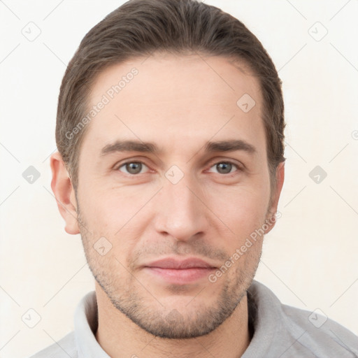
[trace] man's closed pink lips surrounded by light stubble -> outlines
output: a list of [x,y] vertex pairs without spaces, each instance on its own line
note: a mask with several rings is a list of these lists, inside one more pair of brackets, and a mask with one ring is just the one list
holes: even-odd
[[216,269],[215,266],[198,258],[178,260],[160,259],[143,266],[150,275],[175,285],[185,285],[207,278]]

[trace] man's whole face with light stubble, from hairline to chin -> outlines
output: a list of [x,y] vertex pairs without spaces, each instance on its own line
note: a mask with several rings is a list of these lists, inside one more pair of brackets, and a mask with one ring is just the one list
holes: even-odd
[[[222,57],[157,54],[103,71],[92,106],[103,95],[76,194],[92,273],[150,334],[208,334],[245,296],[262,251],[252,233],[275,211],[259,83]],[[186,259],[206,265],[175,266]]]

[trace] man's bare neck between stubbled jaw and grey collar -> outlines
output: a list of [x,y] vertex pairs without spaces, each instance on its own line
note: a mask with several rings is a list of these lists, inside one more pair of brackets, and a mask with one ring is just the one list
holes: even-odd
[[247,296],[210,334],[178,340],[156,337],[138,327],[113,306],[97,283],[96,298],[99,318],[96,340],[111,358],[238,358],[250,343]]

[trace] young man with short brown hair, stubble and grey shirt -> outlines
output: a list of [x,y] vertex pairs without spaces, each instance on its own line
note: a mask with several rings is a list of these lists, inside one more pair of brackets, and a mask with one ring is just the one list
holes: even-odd
[[253,281],[284,181],[280,79],[220,9],[132,0],[80,43],[52,190],[96,291],[34,357],[357,357]]

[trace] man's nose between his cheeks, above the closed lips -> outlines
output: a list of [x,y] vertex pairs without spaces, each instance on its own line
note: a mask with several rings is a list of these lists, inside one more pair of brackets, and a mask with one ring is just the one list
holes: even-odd
[[155,229],[162,235],[179,241],[190,241],[208,229],[208,208],[195,180],[184,176],[173,184],[164,181],[157,200]]

